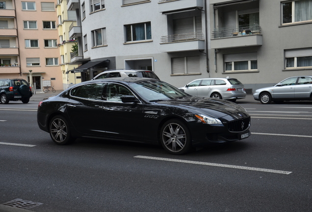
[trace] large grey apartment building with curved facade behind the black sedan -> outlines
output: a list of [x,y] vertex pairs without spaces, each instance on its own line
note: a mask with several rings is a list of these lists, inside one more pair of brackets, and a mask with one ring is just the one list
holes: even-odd
[[312,0],[68,0],[82,80],[148,69],[175,86],[233,77],[248,91],[312,75]]

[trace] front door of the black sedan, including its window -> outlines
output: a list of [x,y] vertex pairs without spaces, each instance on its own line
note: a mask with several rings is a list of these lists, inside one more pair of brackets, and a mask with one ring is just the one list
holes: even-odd
[[124,95],[134,95],[130,89],[119,83],[108,83],[104,93],[103,123],[106,135],[125,140],[143,140],[143,105],[121,101]]

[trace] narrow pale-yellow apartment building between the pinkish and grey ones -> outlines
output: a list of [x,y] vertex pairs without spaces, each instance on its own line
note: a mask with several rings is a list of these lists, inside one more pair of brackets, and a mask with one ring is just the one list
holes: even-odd
[[76,11],[67,10],[67,1],[57,0],[55,5],[58,19],[58,44],[63,89],[81,82],[80,73],[69,74],[77,65],[71,65],[71,57],[78,55],[78,43],[69,37],[69,31],[77,26]]

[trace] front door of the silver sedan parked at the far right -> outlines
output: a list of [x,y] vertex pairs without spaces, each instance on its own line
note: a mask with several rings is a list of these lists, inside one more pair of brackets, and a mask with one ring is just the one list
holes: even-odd
[[281,81],[274,87],[272,97],[275,99],[293,99],[295,97],[297,79],[297,77],[293,77]]

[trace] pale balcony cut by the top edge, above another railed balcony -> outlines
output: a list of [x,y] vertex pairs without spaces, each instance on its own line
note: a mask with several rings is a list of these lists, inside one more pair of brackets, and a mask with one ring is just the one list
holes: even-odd
[[158,11],[163,15],[191,11],[203,7],[203,0],[160,0],[158,2]]

